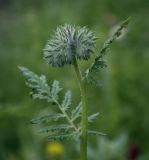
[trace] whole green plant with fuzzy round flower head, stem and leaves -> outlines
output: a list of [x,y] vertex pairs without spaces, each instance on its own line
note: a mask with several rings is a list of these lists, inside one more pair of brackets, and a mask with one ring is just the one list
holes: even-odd
[[[44,49],[44,59],[52,67],[63,67],[64,65],[74,67],[81,93],[81,100],[75,108],[71,107],[70,90],[65,93],[63,100],[60,101],[59,94],[62,88],[58,81],[54,80],[49,85],[44,75],[39,76],[25,67],[19,67],[26,78],[26,84],[32,89],[33,99],[46,100],[56,104],[59,108],[58,113],[49,113],[33,119],[32,124],[44,123],[45,127],[41,129],[41,132],[46,132],[49,140],[79,139],[80,160],[87,160],[88,135],[104,135],[88,129],[88,123],[95,120],[99,113],[87,115],[86,86],[88,83],[97,85],[98,80],[95,75],[106,66],[104,56],[110,44],[121,35],[128,23],[129,19],[122,22],[115,33],[104,43],[101,50],[96,53],[93,63],[84,73],[79,68],[78,60],[88,60],[95,53],[97,38],[92,31],[86,27],[64,25],[58,27],[54,36],[47,42]],[[61,119],[65,119],[66,123],[61,123]],[[54,123],[51,126],[49,122],[51,124],[52,121],[59,122],[57,125]]]

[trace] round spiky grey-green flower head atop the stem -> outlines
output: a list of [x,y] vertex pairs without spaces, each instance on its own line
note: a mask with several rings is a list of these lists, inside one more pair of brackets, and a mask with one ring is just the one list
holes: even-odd
[[60,26],[44,49],[44,58],[53,67],[71,64],[73,59],[88,60],[94,53],[96,37],[86,27]]

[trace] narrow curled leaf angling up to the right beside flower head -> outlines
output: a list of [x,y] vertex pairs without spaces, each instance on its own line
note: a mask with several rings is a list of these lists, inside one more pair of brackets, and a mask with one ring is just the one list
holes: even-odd
[[94,60],[94,62],[91,64],[91,66],[86,70],[85,72],[85,78],[95,84],[98,85],[98,80],[95,78],[96,74],[104,67],[107,66],[104,56],[106,55],[108,49],[110,48],[110,45],[121,36],[123,30],[127,28],[128,24],[130,22],[130,18],[126,19],[122,22],[122,24],[117,28],[117,30],[114,32],[114,34],[104,43],[103,47],[97,53],[97,56]]

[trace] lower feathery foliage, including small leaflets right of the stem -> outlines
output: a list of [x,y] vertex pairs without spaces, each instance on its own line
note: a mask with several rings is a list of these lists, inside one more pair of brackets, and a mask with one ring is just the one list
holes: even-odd
[[[82,103],[80,102],[76,108],[71,109],[69,115],[67,110],[71,106],[71,91],[67,91],[65,93],[63,101],[61,103],[59,100],[59,93],[62,88],[59,86],[58,81],[55,80],[52,85],[49,86],[44,75],[38,76],[25,67],[19,67],[19,69],[27,80],[27,86],[32,89],[32,92],[30,94],[32,95],[33,99],[45,99],[48,102],[55,103],[59,108],[58,113],[47,114],[32,119],[31,123],[46,124],[46,126],[41,129],[40,132],[47,133],[50,140],[75,139],[80,137],[81,126],[80,124],[77,125],[75,121],[76,119],[81,117]],[[92,122],[93,120],[95,120],[98,115],[99,113],[90,115],[88,117],[88,122]],[[67,123],[48,126],[48,123],[59,121],[59,119],[64,119]]]

